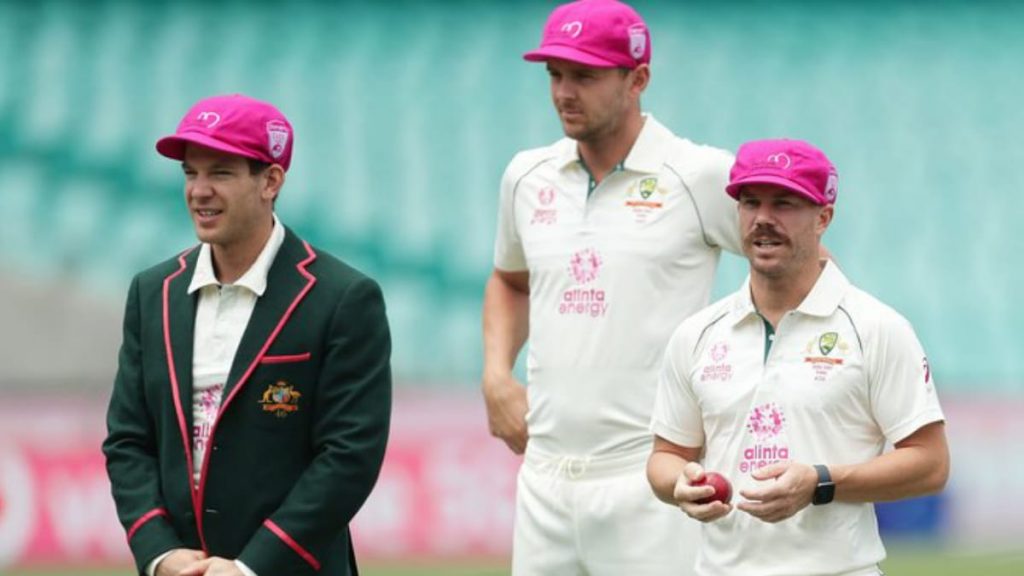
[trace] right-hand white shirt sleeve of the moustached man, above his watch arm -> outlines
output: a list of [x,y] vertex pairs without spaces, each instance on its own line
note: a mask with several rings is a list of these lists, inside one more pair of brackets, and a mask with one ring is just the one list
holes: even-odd
[[897,443],[945,417],[925,349],[910,324],[892,314],[869,344],[871,407],[886,440]]

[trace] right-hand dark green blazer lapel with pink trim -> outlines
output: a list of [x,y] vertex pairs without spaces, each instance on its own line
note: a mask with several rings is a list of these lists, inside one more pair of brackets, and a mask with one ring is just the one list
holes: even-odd
[[237,388],[245,385],[281,328],[288,322],[294,307],[312,288],[316,280],[306,272],[305,266],[315,257],[312,249],[286,227],[285,242],[281,245],[266,278],[266,291],[256,301],[253,315],[249,319],[239,349],[234,354],[234,360],[231,362],[231,371],[224,385],[221,411],[227,408],[238,392]]

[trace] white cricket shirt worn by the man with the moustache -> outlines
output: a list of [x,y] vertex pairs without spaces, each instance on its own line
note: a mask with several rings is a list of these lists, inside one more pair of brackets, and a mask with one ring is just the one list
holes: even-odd
[[[898,313],[830,261],[768,346],[750,280],[687,319],[669,342],[651,430],[705,447],[734,494],[779,460],[855,464],[943,420],[925,352]],[[777,524],[733,510],[705,524],[705,575],[878,574],[874,507],[834,501]]]

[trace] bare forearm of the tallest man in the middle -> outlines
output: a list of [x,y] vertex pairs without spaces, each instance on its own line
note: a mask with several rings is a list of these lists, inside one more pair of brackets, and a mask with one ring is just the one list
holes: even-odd
[[529,293],[509,276],[493,273],[483,293],[484,373],[511,371],[529,332]]

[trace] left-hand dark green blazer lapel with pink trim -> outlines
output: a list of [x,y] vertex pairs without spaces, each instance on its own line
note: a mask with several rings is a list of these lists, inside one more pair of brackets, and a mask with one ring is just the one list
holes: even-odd
[[193,248],[178,257],[179,268],[164,280],[164,344],[177,421],[181,427],[186,457],[191,456],[193,428],[193,344],[196,332],[196,294],[188,283],[196,271],[199,250]]

